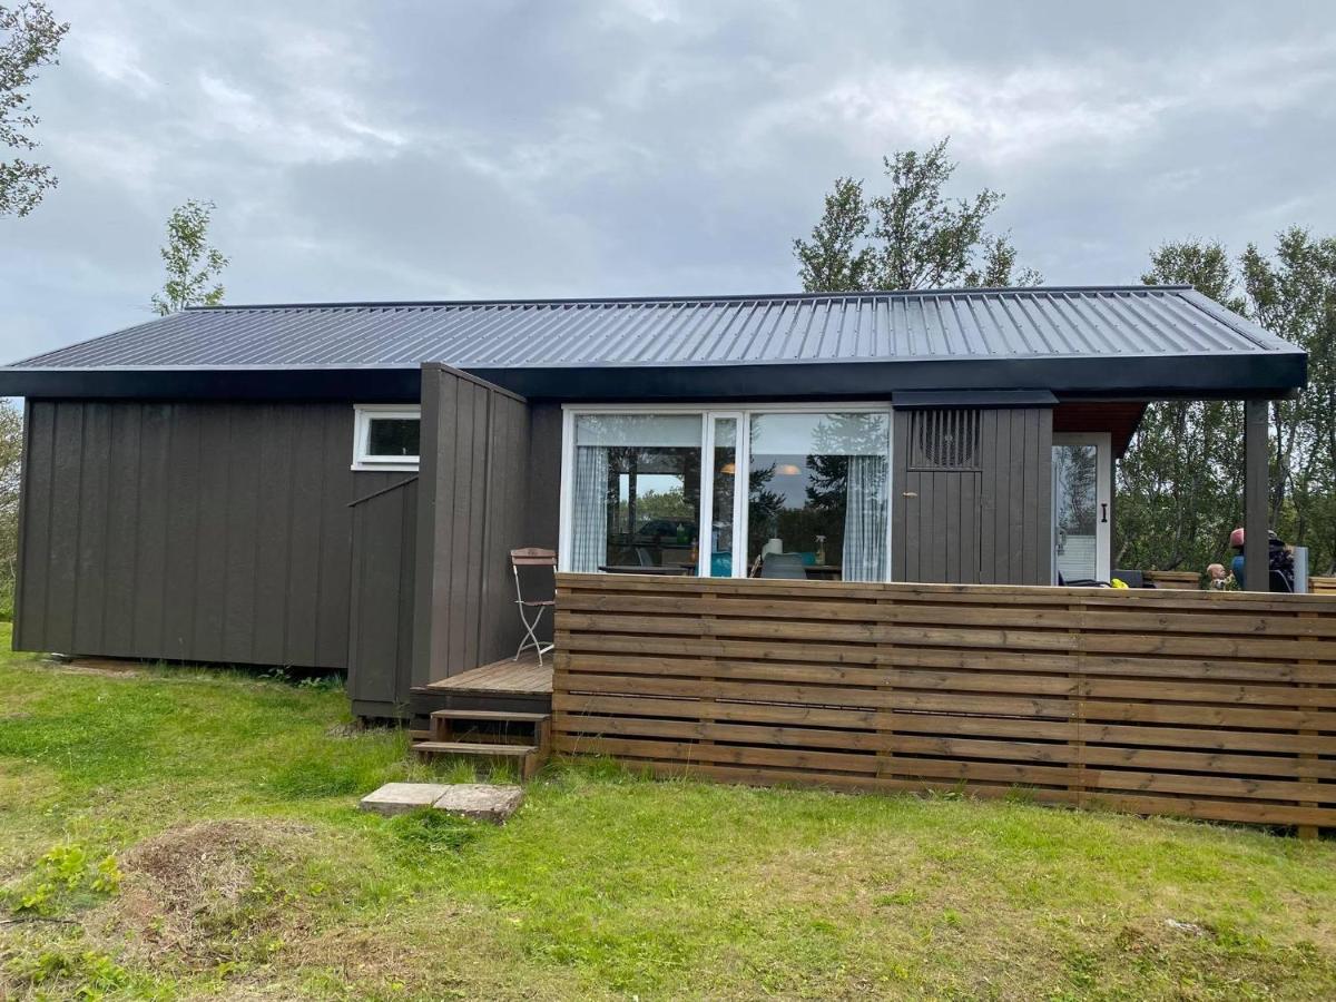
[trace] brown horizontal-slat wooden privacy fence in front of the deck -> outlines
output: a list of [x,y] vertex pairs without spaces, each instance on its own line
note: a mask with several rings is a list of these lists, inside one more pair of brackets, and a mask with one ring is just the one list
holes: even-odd
[[561,574],[557,751],[1336,826],[1336,599]]

